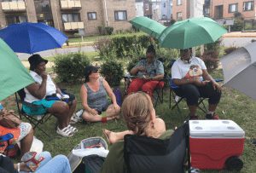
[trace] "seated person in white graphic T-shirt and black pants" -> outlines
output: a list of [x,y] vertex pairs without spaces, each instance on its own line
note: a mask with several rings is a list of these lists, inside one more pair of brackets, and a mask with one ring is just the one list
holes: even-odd
[[185,97],[189,107],[189,118],[197,119],[195,115],[199,97],[209,98],[207,119],[218,119],[215,109],[221,96],[221,86],[207,72],[207,66],[200,58],[191,55],[192,49],[181,49],[181,58],[172,65],[172,81],[178,87],[173,89]]

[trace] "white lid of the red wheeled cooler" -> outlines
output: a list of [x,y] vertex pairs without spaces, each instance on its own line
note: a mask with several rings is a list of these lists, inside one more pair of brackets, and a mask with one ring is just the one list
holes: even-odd
[[192,138],[244,138],[245,132],[232,120],[189,120],[189,136]]

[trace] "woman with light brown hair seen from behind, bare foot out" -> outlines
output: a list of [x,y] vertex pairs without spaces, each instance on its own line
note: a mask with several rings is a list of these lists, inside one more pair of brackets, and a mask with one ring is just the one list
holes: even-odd
[[167,139],[172,136],[172,130],[166,130],[166,124],[155,115],[150,96],[143,92],[128,95],[122,104],[121,113],[125,118],[128,130],[112,132],[104,130],[108,137],[110,147],[107,158],[102,165],[102,172],[127,172],[124,159],[124,136],[136,134],[137,136],[150,136]]

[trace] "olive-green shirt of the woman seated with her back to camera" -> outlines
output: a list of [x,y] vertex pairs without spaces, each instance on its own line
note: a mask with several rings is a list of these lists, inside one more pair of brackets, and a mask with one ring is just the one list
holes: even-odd
[[[168,139],[172,136],[173,130],[166,130],[159,139]],[[114,143],[109,150],[108,156],[102,165],[102,173],[122,173],[126,172],[124,159],[124,141]]]

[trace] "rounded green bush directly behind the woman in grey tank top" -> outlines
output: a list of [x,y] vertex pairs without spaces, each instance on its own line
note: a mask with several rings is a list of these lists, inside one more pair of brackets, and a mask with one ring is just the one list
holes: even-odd
[[101,66],[102,76],[108,81],[111,87],[119,86],[124,76],[124,68],[122,63],[115,58],[107,59]]

